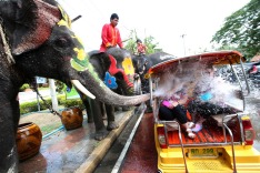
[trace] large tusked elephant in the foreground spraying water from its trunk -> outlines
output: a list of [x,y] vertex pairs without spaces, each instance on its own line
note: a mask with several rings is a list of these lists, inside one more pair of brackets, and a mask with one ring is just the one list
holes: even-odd
[[0,1],[0,172],[18,172],[19,88],[43,77],[72,84],[91,99],[136,105],[149,94],[124,96],[103,84],[71,22],[54,0]]

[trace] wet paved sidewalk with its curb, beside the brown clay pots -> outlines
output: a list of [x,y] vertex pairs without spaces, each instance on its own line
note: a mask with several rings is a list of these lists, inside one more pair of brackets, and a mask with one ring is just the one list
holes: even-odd
[[92,172],[133,113],[134,108],[130,111],[118,111],[116,122],[120,128],[111,131],[102,141],[94,140],[94,124],[87,123],[86,119],[80,129],[61,129],[42,140],[39,154],[20,162],[19,172]]

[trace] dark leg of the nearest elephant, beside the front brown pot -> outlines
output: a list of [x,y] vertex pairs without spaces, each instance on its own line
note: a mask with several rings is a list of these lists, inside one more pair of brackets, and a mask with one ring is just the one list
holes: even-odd
[[0,172],[18,172],[16,134],[19,106],[13,109],[10,103],[2,103],[0,111],[2,115],[0,116]]

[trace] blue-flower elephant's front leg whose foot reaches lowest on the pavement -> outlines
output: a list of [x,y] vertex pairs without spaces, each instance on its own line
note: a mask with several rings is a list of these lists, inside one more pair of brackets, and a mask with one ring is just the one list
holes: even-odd
[[102,113],[100,109],[101,103],[97,100],[91,100],[90,103],[93,113],[94,126],[96,126],[94,139],[100,141],[104,139],[109,132],[107,131],[103,123]]

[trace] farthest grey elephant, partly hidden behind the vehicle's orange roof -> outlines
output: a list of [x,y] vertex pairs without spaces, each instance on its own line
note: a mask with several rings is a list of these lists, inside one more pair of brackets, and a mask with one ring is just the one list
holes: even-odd
[[177,57],[166,53],[166,52],[156,52],[152,54],[148,54],[148,55],[133,55],[133,67],[136,70],[136,73],[139,74],[140,79],[141,79],[141,90],[144,93],[149,93],[149,82],[148,80],[144,78],[146,73],[148,72],[148,70],[152,67],[156,65],[158,63],[161,63],[163,61],[168,61],[171,59],[176,59]]

